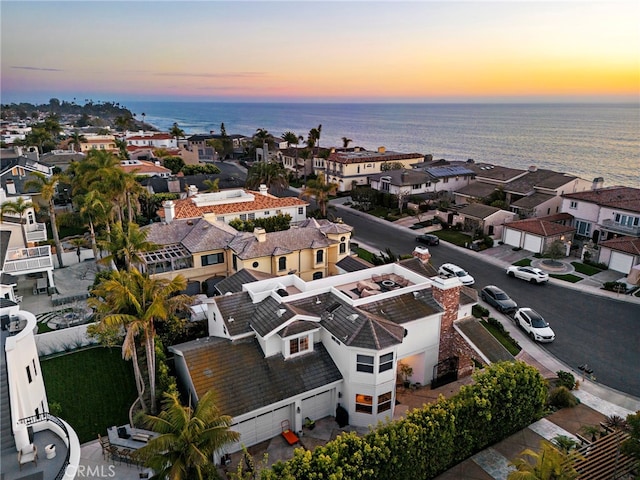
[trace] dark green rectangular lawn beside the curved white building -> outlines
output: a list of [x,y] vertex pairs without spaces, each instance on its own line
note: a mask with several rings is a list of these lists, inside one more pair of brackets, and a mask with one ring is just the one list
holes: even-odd
[[41,360],[49,405],[76,431],[80,443],[106,435],[107,427],[129,423],[136,399],[131,362],[120,348],[96,347]]

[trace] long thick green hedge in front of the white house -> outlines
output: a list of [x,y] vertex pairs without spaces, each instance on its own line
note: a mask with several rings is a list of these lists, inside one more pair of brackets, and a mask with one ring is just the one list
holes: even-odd
[[433,478],[543,416],[547,389],[523,362],[501,362],[474,375],[450,398],[359,437],[345,433],[313,452],[263,470],[263,480]]

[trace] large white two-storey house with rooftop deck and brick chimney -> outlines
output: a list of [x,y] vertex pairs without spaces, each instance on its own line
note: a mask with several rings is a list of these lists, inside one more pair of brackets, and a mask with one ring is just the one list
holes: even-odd
[[170,350],[192,401],[214,390],[233,417],[241,438],[229,452],[279,435],[283,421],[300,432],[304,418],[337,409],[351,425],[375,426],[393,417],[399,363],[426,384],[445,363],[457,378],[480,358],[455,326],[475,291],[401,264],[257,280],[207,302],[210,336]]

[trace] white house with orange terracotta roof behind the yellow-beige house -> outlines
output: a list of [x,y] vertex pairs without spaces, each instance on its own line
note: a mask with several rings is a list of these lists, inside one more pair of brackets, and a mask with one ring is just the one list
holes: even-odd
[[290,215],[292,223],[307,218],[309,203],[296,197],[276,197],[260,185],[260,191],[243,188],[199,193],[195,185],[189,186],[188,197],[165,202],[159,213],[166,222],[181,218],[205,217],[224,223],[231,220],[254,220],[275,215]]

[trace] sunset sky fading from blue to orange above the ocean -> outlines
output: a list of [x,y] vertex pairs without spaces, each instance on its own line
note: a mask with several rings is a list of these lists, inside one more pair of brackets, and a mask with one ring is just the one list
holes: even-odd
[[640,99],[640,1],[0,2],[0,102]]

